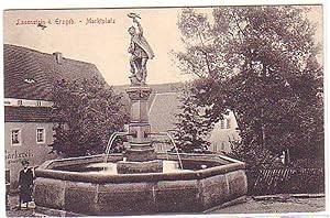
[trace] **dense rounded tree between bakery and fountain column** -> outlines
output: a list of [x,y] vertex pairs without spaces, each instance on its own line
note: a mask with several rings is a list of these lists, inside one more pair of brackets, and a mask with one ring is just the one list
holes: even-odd
[[53,90],[52,151],[63,156],[99,154],[114,131],[128,122],[128,113],[105,80],[94,77],[58,81]]

